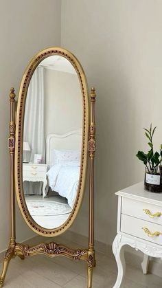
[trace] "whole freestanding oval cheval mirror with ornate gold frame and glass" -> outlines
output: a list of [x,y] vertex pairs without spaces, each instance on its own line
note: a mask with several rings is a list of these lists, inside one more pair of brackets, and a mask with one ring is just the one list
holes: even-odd
[[[89,111],[91,102],[91,111]],[[10,91],[11,203],[10,245],[3,261],[0,287],[14,256],[45,254],[86,261],[92,287],[94,251],[95,89],[91,99],[86,76],[75,56],[60,47],[39,52],[25,70],[16,109]],[[89,117],[91,112],[91,117]],[[89,122],[89,118],[90,121]],[[70,228],[84,196],[89,169],[89,244],[71,249],[56,242],[30,247],[16,243],[15,194],[27,225],[54,237]]]

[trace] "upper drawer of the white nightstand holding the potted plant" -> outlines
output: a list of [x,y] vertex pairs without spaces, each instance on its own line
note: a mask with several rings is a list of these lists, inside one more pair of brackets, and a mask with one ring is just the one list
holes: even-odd
[[[143,209],[149,210],[149,214],[151,213],[151,215],[146,214],[146,211]],[[161,206],[122,197],[122,214],[162,225],[162,215],[158,217],[156,215],[157,212],[162,213]]]

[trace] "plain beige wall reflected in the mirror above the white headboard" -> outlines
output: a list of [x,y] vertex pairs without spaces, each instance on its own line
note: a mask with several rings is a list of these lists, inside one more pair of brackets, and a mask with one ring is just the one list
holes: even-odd
[[[76,109],[77,107],[77,109]],[[82,128],[82,94],[78,76],[45,69],[45,135]]]

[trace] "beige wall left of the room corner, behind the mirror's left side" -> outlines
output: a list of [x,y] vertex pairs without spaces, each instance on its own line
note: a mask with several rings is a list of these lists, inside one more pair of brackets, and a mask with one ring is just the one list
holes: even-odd
[[[47,5],[48,2],[48,5]],[[18,93],[23,71],[40,49],[60,45],[60,0],[5,0],[0,9],[0,252],[9,241],[10,158],[8,93]],[[32,232],[17,212],[17,241]]]

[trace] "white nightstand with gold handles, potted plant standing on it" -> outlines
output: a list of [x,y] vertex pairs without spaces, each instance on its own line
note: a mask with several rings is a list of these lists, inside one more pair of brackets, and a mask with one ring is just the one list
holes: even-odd
[[115,194],[118,195],[118,215],[113,254],[118,275],[113,288],[119,288],[125,275],[125,245],[145,254],[141,263],[144,274],[147,274],[149,256],[162,258],[162,193],[144,190],[141,182]]

